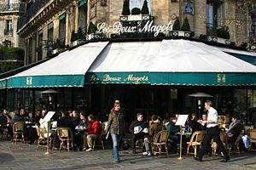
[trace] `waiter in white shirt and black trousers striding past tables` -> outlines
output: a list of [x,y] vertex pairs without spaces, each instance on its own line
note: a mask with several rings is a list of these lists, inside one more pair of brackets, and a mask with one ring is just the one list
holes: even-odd
[[205,108],[208,111],[207,121],[201,121],[201,123],[207,123],[207,133],[203,140],[201,150],[199,151],[197,157],[194,159],[196,161],[202,161],[202,156],[204,156],[205,152],[207,151],[207,145],[213,138],[214,141],[218,144],[219,150],[224,154],[224,159],[221,160],[221,162],[227,162],[230,160],[230,156],[227,155],[224,144],[219,138],[218,112],[212,108],[212,101],[210,100],[205,102]]

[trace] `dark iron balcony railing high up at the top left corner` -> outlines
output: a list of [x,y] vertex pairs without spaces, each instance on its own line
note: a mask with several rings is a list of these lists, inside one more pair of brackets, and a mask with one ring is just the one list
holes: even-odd
[[48,3],[49,0],[38,0],[35,3],[32,4],[30,8],[26,11],[25,14],[23,14],[19,20],[18,20],[18,30],[25,26],[28,21],[34,16],[35,14],[38,13],[38,11],[44,6],[45,3]]

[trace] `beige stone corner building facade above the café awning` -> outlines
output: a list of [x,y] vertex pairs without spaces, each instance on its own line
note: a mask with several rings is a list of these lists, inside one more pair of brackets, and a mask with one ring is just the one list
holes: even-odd
[[[142,8],[144,0],[130,0],[130,9]],[[238,8],[233,0],[147,0],[149,14],[154,25],[166,26],[179,18],[183,23],[189,19],[195,38],[209,34],[212,26],[228,26],[230,41],[248,42],[250,20],[248,13]],[[90,24],[106,26],[120,20],[124,1],[120,0],[41,0],[35,1],[26,10],[18,25],[18,34],[26,45],[26,65],[52,54],[52,44],[58,38],[63,44],[71,45],[72,31],[79,27],[85,32]],[[1,28],[0,28],[1,29]],[[110,37],[110,34],[105,35]]]

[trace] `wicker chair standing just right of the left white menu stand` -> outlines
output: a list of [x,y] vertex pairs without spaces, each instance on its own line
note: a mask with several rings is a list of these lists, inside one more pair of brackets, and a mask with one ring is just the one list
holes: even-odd
[[67,143],[67,150],[69,152],[70,145],[73,149],[73,132],[70,127],[59,127],[57,128],[57,134],[59,136],[59,139],[61,140],[60,150],[64,149],[64,143]]

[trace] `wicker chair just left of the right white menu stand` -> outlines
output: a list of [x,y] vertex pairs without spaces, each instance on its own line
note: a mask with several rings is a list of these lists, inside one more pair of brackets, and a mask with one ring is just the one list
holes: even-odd
[[[154,137],[153,145],[156,147],[152,147],[152,153],[154,152],[153,148],[155,148],[155,153],[161,155],[161,153],[166,153],[167,156],[169,156],[168,153],[168,139],[169,139],[170,133],[166,130],[162,130],[159,133],[157,133]],[[166,151],[162,151],[162,146],[165,146]]]

